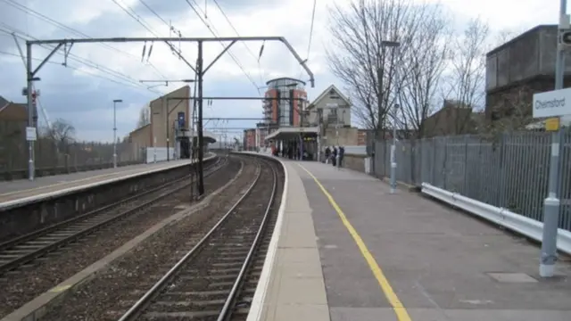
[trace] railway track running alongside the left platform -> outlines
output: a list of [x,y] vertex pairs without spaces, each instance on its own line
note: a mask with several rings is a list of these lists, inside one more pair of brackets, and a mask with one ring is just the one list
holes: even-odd
[[[223,168],[228,163],[226,157],[219,158],[205,169],[205,176]],[[53,226],[22,235],[10,241],[0,243],[0,276],[25,266],[34,259],[46,256],[66,244],[76,242],[80,238],[91,235],[105,226],[110,226],[121,219],[128,218],[151,208],[151,204],[186,188],[193,183],[189,176],[181,177],[166,184],[145,190],[131,197],[106,205],[103,208],[89,211],[75,218],[62,221]]]

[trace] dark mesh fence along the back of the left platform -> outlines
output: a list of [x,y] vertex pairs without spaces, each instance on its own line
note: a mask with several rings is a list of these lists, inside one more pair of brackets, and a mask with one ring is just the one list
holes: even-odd
[[[38,138],[33,150],[36,176],[50,176],[113,166],[113,145],[92,142],[57,142]],[[130,143],[117,144],[117,165],[145,162],[145,147]],[[0,138],[0,180],[28,177],[29,148],[21,139]]]

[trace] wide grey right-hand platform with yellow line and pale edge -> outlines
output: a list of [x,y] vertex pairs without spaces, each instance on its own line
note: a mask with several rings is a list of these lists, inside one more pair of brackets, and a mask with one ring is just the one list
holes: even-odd
[[283,163],[248,321],[570,319],[568,260],[542,279],[522,237],[351,169]]

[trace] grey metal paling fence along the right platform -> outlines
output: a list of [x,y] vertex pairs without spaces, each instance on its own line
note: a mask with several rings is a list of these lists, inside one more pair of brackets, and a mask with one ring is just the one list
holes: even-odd
[[[392,141],[376,141],[372,174],[389,177]],[[443,136],[396,144],[397,180],[423,182],[542,221],[550,133],[506,133],[495,139]],[[559,227],[571,230],[571,134],[562,133]]]

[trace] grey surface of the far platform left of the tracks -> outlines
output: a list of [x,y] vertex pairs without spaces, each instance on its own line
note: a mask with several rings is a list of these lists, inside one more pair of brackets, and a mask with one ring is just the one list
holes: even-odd
[[108,179],[143,173],[147,170],[168,168],[188,162],[189,160],[162,161],[152,164],[124,166],[117,169],[99,169],[65,175],[36,177],[33,181],[19,179],[10,182],[0,182],[0,203],[43,193],[51,193],[70,187],[103,182]]

